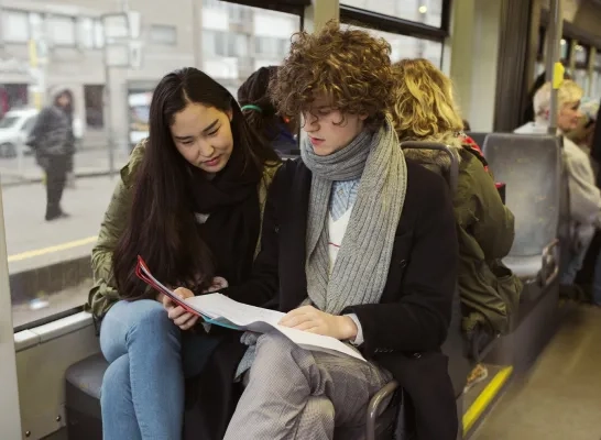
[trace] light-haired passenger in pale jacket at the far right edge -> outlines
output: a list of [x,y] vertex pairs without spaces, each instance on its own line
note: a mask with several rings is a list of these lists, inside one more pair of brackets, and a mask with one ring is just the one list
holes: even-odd
[[[533,122],[515,130],[515,133],[546,134],[549,128],[551,84],[546,82],[534,96],[536,117]],[[587,153],[570,141],[565,133],[573,130],[581,118],[578,108],[582,89],[571,79],[558,89],[557,133],[564,138],[561,151],[568,174],[570,222],[560,228],[559,237],[568,243],[573,238],[567,254],[561,258],[559,283],[571,286],[587,254],[595,227],[601,224],[601,194],[594,184],[594,174]],[[564,288],[566,288],[564,287]]]

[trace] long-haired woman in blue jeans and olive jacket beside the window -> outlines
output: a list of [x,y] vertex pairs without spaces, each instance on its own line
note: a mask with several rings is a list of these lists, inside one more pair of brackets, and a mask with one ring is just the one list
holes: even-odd
[[200,70],[156,86],[150,136],[121,170],[92,251],[88,309],[101,319],[110,363],[106,440],[179,439],[184,377],[203,370],[223,334],[190,331],[196,317],[136,278],[136,256],[164,284],[187,287],[176,290],[183,296],[244,282],[278,163],[228,90]]

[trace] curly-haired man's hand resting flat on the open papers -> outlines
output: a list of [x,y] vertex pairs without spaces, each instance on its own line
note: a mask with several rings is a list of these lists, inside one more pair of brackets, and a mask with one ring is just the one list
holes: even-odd
[[358,331],[351,318],[326,314],[313,306],[304,306],[289,311],[282,318],[280,324],[310,333],[332,337],[341,341],[354,339]]

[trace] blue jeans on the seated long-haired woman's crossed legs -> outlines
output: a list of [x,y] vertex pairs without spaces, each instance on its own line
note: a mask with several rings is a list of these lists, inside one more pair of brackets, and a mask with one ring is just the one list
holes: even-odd
[[201,372],[219,339],[182,332],[155,300],[119,301],[102,319],[109,362],[100,404],[105,440],[182,438],[184,380]]

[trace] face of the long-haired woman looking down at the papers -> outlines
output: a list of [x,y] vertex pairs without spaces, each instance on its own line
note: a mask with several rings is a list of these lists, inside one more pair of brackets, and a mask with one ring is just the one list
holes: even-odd
[[175,113],[171,134],[175,147],[192,165],[206,173],[219,173],[226,167],[233,150],[231,110],[189,103]]

